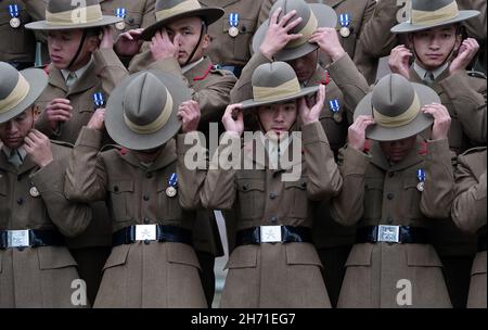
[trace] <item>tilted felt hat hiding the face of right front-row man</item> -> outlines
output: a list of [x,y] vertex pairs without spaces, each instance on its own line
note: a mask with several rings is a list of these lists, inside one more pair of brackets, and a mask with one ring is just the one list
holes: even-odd
[[381,79],[355,111],[373,116],[376,125],[367,130],[367,138],[376,141],[396,141],[418,135],[428,128],[434,119],[421,109],[426,104],[440,103],[435,90],[410,82],[403,76],[390,74]]

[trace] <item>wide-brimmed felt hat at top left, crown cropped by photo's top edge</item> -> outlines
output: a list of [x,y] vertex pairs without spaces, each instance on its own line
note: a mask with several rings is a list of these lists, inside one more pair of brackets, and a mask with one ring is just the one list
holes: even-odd
[[103,15],[99,0],[49,0],[46,21],[26,24],[28,29],[62,30],[102,27],[124,21],[123,17]]

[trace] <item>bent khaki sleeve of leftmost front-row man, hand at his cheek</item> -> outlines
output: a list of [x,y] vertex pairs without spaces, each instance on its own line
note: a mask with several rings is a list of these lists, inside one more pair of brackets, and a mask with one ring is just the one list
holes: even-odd
[[54,160],[31,178],[44,202],[49,217],[60,231],[74,237],[85,231],[91,221],[88,204],[68,201],[64,195],[64,174],[68,156]]

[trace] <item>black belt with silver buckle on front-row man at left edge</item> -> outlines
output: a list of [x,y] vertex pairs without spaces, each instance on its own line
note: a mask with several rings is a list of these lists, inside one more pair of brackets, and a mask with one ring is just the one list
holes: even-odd
[[56,230],[0,230],[0,250],[65,244],[64,236]]

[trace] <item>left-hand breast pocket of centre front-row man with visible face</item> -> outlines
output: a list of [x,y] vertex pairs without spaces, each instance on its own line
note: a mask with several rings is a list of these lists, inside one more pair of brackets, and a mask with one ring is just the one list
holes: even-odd
[[261,179],[237,179],[239,212],[242,219],[262,215],[265,208],[265,181]]

